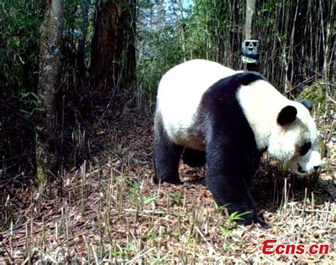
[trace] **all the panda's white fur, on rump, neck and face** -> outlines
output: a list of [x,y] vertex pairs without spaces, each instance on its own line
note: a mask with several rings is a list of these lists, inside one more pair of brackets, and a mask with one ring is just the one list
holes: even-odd
[[[197,139],[192,125],[203,93],[221,78],[237,73],[225,66],[201,59],[187,61],[170,69],[159,83],[157,112],[162,115],[169,139],[181,146],[203,151],[204,143]],[[256,137],[259,150],[267,148],[271,157],[280,160],[296,173],[298,164],[306,173],[320,166],[318,131],[306,107],[285,98],[267,81],[242,86],[238,101]],[[296,120],[280,126],[276,118],[283,107],[292,105],[298,111]],[[306,155],[298,155],[301,146],[310,141]]]

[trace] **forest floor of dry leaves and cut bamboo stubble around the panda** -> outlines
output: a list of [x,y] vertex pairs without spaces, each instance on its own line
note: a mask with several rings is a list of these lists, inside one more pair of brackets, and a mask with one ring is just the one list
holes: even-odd
[[[329,139],[318,182],[263,159],[251,193],[271,225],[265,230],[235,225],[215,206],[203,184],[204,168],[181,164],[188,183],[153,184],[152,114],[117,116],[86,131],[94,135],[88,144],[96,155],[57,176],[44,194],[24,184],[28,176],[0,178],[0,264],[335,264],[336,151],[330,126],[320,124]],[[270,239],[278,239],[277,245],[289,239],[305,251],[262,254],[262,242]],[[306,253],[313,244],[328,245],[329,253]]]

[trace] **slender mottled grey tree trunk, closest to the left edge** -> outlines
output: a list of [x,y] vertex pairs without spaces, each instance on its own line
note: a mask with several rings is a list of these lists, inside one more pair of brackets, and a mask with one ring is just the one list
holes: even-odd
[[56,93],[60,84],[60,47],[64,23],[64,1],[49,0],[41,25],[38,97],[40,112],[36,126],[38,180],[44,187],[47,176],[57,169]]

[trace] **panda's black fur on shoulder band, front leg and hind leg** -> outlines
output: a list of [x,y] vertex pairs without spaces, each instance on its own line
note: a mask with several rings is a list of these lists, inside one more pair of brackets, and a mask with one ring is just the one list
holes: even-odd
[[[247,186],[259,167],[261,151],[237,100],[237,90],[259,80],[265,80],[259,73],[237,73],[208,88],[193,128],[206,146],[206,184],[215,201],[220,206],[229,204],[230,213],[253,211],[240,222],[246,225],[260,222]],[[162,126],[155,131],[154,151],[157,178],[177,182],[180,149],[170,143]]]

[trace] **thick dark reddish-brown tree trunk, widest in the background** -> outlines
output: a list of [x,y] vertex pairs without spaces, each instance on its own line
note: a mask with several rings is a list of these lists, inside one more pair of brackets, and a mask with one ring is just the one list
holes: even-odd
[[101,94],[135,84],[135,6],[135,0],[100,1],[90,72],[91,85]]

